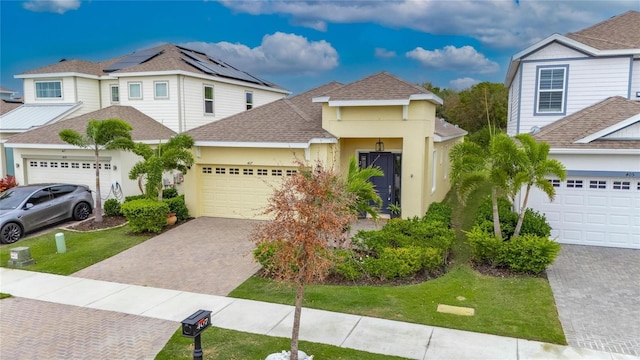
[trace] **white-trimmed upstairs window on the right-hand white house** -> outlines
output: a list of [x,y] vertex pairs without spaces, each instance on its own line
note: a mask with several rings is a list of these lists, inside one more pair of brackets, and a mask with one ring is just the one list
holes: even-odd
[[536,113],[565,112],[568,66],[538,67]]

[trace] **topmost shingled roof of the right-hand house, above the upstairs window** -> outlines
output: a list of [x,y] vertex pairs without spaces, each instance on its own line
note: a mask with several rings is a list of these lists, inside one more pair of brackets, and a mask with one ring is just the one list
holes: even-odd
[[599,50],[640,49],[640,12],[627,11],[565,36]]

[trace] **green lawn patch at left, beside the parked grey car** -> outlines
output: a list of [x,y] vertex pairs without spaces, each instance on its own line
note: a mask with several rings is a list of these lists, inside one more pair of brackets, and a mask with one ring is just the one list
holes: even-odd
[[[130,235],[129,231],[128,225],[96,232],[54,229],[46,234],[0,247],[0,266],[9,267],[7,262],[11,249],[27,246],[36,263],[19,269],[70,275],[151,238],[149,235]],[[65,236],[67,251],[63,254],[57,253],[55,234],[58,232]]]

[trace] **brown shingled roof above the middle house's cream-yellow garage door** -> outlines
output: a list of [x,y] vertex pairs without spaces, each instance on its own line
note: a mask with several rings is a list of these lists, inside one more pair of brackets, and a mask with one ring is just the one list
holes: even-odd
[[311,99],[340,88],[331,82],[289,99],[255,107],[187,132],[202,142],[308,143],[333,139],[322,129],[322,105]]

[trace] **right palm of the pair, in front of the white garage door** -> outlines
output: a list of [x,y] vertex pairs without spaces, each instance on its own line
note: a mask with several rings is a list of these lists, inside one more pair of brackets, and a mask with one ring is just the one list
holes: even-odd
[[556,189],[546,177],[554,175],[562,181],[567,177],[567,171],[564,165],[558,160],[548,158],[549,144],[546,142],[536,142],[533,136],[529,134],[518,134],[515,137],[520,142],[520,151],[526,155],[525,161],[516,175],[515,186],[521,188],[522,185],[526,185],[526,189],[513,237],[520,235],[531,188],[534,186],[537,187],[547,194],[550,201],[553,201],[556,195]]

